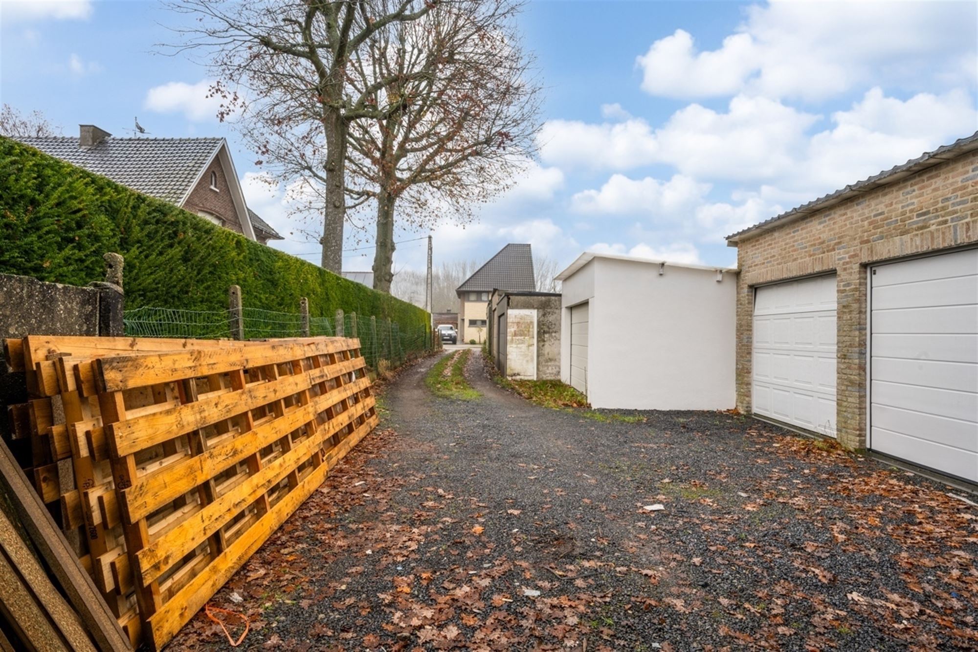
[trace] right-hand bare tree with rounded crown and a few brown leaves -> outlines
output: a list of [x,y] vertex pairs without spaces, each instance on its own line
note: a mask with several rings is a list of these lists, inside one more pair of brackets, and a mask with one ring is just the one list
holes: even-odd
[[402,229],[465,223],[534,152],[540,88],[514,26],[520,7],[441,3],[418,21],[376,31],[351,62],[357,93],[392,108],[349,131],[348,194],[376,203],[376,289],[389,291],[393,278],[395,203],[404,204]]

